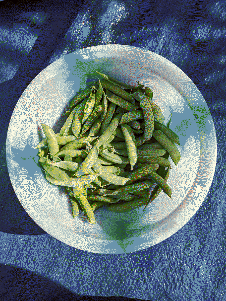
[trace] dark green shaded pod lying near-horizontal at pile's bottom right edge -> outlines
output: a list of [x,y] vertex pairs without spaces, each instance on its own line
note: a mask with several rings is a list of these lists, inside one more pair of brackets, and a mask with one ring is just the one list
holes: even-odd
[[127,212],[146,205],[147,201],[148,197],[140,197],[139,199],[131,200],[127,203],[111,204],[107,205],[107,207],[112,212]]

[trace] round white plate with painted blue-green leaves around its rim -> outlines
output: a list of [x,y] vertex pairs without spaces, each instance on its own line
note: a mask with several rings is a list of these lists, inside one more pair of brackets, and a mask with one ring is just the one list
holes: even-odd
[[[171,129],[183,146],[178,146],[181,154],[178,169],[174,165],[168,179],[172,200],[161,192],[145,211],[142,207],[114,214],[101,208],[95,212],[93,225],[81,213],[73,219],[63,188],[46,181],[36,165],[37,150],[33,148],[43,138],[40,118],[59,132],[60,116],[71,97],[97,79],[94,69],[129,85],[140,80],[149,86],[153,100],[165,116],[165,124],[173,113]],[[17,102],[6,143],[10,179],[30,217],[65,244],[104,254],[143,250],[183,227],[209,191],[216,154],[213,120],[194,83],[164,57],[127,45],[81,49],[46,67]]]

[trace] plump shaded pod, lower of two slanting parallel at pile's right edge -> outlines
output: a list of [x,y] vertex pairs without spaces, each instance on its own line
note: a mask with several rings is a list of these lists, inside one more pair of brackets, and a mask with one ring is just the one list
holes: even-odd
[[177,166],[180,161],[180,152],[176,145],[160,130],[153,133],[153,137],[168,151],[171,159]]

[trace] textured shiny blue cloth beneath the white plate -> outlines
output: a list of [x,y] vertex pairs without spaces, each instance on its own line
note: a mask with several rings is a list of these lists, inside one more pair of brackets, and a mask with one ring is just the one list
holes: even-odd
[[[226,300],[225,1],[3,1],[0,39],[2,300]],[[211,188],[187,224],[118,255],[77,250],[39,228],[14,193],[5,158],[10,117],[27,85],[59,57],[102,44],[148,49],[183,70],[209,107],[218,147]]]

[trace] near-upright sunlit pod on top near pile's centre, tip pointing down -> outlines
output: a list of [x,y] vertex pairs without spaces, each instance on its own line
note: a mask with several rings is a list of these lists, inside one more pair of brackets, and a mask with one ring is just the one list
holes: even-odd
[[136,138],[133,134],[132,129],[125,123],[121,124],[121,130],[123,132],[126,147],[127,147],[127,155],[130,162],[131,170],[133,166],[137,163],[137,143]]

